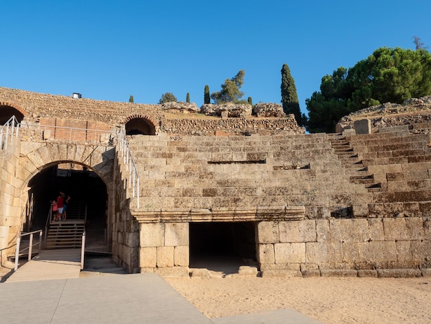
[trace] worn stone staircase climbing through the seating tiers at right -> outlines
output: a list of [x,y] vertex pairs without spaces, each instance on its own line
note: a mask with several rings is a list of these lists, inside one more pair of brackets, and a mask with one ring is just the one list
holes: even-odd
[[329,142],[335,154],[337,154],[341,165],[350,175],[350,183],[363,184],[368,191],[379,191],[381,183],[374,179],[374,174],[368,172],[364,162],[359,159],[359,154],[351,147],[346,136],[341,134],[328,134]]

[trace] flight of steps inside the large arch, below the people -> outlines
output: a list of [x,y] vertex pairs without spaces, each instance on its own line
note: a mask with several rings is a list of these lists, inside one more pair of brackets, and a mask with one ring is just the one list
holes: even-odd
[[83,219],[52,222],[45,241],[45,249],[81,248],[85,223]]

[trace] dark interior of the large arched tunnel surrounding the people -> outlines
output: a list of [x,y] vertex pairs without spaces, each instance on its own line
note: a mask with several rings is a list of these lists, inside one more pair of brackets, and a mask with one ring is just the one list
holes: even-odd
[[84,219],[85,250],[92,247],[107,251],[107,186],[96,172],[76,163],[59,163],[45,168],[33,176],[28,183],[28,205],[32,212],[24,230],[44,229],[59,192],[70,196],[67,205],[67,219]]

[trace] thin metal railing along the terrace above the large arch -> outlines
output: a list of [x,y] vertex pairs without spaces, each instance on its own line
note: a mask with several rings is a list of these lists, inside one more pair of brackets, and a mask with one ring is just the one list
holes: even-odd
[[40,132],[41,139],[44,140],[63,140],[79,142],[96,142],[112,144],[116,137],[116,131],[92,130],[89,128],[74,128],[57,125],[39,125],[34,123],[19,124],[21,131],[30,130]]

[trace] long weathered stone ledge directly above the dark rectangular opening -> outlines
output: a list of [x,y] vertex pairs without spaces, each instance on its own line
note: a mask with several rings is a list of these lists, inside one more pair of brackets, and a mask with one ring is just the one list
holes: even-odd
[[139,223],[300,221],[304,219],[305,207],[135,210],[132,215]]

